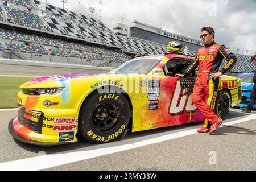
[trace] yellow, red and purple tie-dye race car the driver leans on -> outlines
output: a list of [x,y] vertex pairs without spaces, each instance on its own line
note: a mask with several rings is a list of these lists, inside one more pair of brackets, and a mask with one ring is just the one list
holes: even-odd
[[[14,138],[31,144],[93,143],[118,139],[127,131],[203,121],[184,94],[176,73],[193,57],[177,54],[138,57],[104,74],[43,77],[20,86],[18,117],[9,123]],[[196,74],[192,73],[191,77]],[[241,102],[241,81],[222,76],[216,113],[225,117]]]

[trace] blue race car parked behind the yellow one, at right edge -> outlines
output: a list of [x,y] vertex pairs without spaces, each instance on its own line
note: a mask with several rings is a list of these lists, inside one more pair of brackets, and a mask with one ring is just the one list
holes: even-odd
[[[244,73],[238,76],[242,81],[242,102],[236,107],[246,107],[249,105],[251,90],[253,90],[253,76],[254,73]],[[256,103],[253,106],[253,109],[256,109]]]

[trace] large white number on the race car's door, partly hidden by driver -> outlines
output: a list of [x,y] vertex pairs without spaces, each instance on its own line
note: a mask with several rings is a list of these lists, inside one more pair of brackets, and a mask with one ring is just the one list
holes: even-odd
[[197,107],[192,103],[192,94],[182,96],[184,93],[185,90],[181,89],[180,81],[177,81],[174,96],[172,97],[171,105],[169,108],[169,114],[176,115],[183,113],[184,110],[187,113],[194,112],[197,110]]

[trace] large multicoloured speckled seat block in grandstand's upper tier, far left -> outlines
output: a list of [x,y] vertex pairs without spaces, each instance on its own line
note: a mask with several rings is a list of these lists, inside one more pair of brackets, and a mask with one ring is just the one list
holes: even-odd
[[11,16],[14,23],[20,24],[26,27],[33,27],[43,29],[44,25],[39,16],[27,11],[21,11],[14,9],[13,7],[5,6],[6,13]]

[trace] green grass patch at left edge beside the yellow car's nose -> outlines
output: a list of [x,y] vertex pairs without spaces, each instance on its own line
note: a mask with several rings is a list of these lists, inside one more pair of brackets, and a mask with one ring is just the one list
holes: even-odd
[[33,79],[33,77],[0,76],[0,108],[17,107],[17,94],[21,90],[19,86]]

